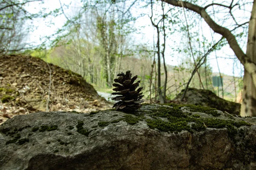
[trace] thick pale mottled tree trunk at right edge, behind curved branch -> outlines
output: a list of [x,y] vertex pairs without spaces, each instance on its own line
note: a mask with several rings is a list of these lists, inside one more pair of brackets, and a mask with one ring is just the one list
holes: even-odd
[[[256,0],[253,3],[253,10],[249,22],[248,42],[246,55],[253,63],[256,63]],[[244,69],[242,92],[241,116],[256,116],[256,88],[250,73]]]

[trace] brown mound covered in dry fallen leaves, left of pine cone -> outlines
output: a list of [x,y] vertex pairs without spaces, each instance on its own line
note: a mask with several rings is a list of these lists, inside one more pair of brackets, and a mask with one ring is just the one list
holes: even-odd
[[39,58],[8,55],[0,56],[0,61],[0,124],[38,111],[88,113],[113,105],[79,74]]

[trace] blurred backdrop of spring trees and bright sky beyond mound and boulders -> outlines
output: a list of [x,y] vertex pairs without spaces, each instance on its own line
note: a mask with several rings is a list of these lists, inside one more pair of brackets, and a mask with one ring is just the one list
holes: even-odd
[[[253,1],[209,4],[210,16],[246,51]],[[116,74],[131,70],[151,102],[174,99],[188,84],[241,102],[244,67],[227,40],[195,12],[163,1],[0,0],[0,44],[1,54],[40,57],[80,74],[97,91],[111,93]],[[213,76],[223,77],[219,89]]]

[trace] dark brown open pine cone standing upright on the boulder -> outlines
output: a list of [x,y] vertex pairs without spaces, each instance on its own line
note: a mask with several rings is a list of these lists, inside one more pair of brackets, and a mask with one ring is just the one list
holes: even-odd
[[[126,74],[119,73],[117,74],[118,78],[114,79],[113,91],[117,91],[112,93],[113,95],[120,95],[113,97],[112,100],[119,101],[113,105],[113,108],[116,110],[127,110],[127,111],[134,111],[141,107],[140,103],[144,102],[142,97],[144,95],[141,90],[143,87],[140,87],[136,90],[139,86],[140,80],[135,82],[134,81],[138,78],[138,76],[134,76],[131,78],[131,71],[126,71]],[[121,101],[120,101],[121,100]]]

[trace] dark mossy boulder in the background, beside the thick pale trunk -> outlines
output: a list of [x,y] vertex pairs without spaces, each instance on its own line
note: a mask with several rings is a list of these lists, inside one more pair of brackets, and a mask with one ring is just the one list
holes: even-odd
[[[184,93],[184,89],[175,99],[180,99]],[[241,104],[236,102],[230,102],[218,97],[215,93],[209,90],[188,88],[185,94],[186,104],[203,105],[211,108],[216,108],[220,111],[227,111],[228,113],[240,114]]]

